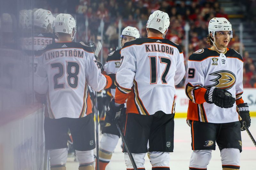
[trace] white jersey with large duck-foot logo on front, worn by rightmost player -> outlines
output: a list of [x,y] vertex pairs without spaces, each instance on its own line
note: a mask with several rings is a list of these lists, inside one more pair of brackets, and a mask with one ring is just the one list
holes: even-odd
[[225,109],[205,102],[205,91],[211,87],[226,89],[236,98],[236,104],[244,103],[243,59],[235,50],[227,48],[225,53],[218,53],[204,48],[193,53],[188,59],[185,89],[189,98],[187,119],[210,123],[239,121],[236,104]]

